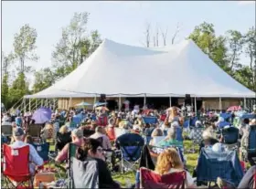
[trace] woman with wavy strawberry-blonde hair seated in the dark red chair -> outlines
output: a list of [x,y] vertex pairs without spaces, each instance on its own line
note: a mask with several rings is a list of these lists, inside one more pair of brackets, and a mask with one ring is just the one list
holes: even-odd
[[[164,152],[161,152],[157,158],[155,165],[155,172],[163,175],[165,173],[176,173],[182,172],[184,170],[184,164],[181,162],[181,159],[176,152],[175,148],[165,149]],[[194,180],[190,173],[186,171],[186,187],[194,187]]]

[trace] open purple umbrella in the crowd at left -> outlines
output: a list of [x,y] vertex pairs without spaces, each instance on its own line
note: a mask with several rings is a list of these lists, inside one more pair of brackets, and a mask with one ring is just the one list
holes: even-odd
[[51,110],[48,108],[39,108],[37,109],[32,116],[32,119],[35,120],[36,124],[43,124],[47,121],[50,121]]

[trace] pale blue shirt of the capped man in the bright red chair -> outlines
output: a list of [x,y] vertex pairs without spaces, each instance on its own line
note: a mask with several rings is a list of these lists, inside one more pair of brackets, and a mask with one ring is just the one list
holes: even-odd
[[11,148],[22,148],[27,145],[29,146],[29,161],[31,162],[29,163],[29,171],[31,174],[34,174],[36,170],[36,165],[41,166],[44,164],[43,159],[38,155],[35,147],[22,141],[16,141],[10,146]]

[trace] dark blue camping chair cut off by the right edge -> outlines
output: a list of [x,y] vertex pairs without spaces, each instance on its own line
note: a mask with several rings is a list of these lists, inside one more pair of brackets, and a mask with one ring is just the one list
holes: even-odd
[[248,154],[253,154],[254,158],[256,158],[256,125],[250,126],[248,145],[241,146],[241,156],[243,161],[247,161]]

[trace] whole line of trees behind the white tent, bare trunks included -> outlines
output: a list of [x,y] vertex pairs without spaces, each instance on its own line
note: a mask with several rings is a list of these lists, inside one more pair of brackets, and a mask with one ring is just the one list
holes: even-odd
[[[14,36],[13,50],[9,53],[2,51],[2,91],[1,100],[8,109],[24,95],[33,94],[42,89],[47,89],[57,80],[67,76],[77,68],[91,53],[101,44],[101,35],[98,30],[89,31],[87,25],[90,14],[87,12],[75,13],[70,19],[69,25],[62,28],[59,42],[52,52],[52,64],[48,68],[34,70],[27,66],[27,61],[37,62],[37,30],[25,25]],[[150,25],[145,28],[145,47],[159,47],[159,31],[163,46],[174,44],[176,35],[180,30],[176,26],[176,32],[167,40],[167,29],[156,27],[152,35]],[[192,39],[204,53],[216,64],[226,71],[231,77],[237,79],[247,88],[256,91],[256,31],[251,26],[243,34],[237,30],[229,30],[221,36],[217,36],[214,26],[210,23],[202,23],[195,26],[194,31],[187,37]],[[245,55],[249,65],[241,61],[241,55]],[[12,77],[12,65],[15,66],[16,76]],[[34,85],[29,89],[27,74],[34,74]],[[218,77],[218,76],[217,76]]]

